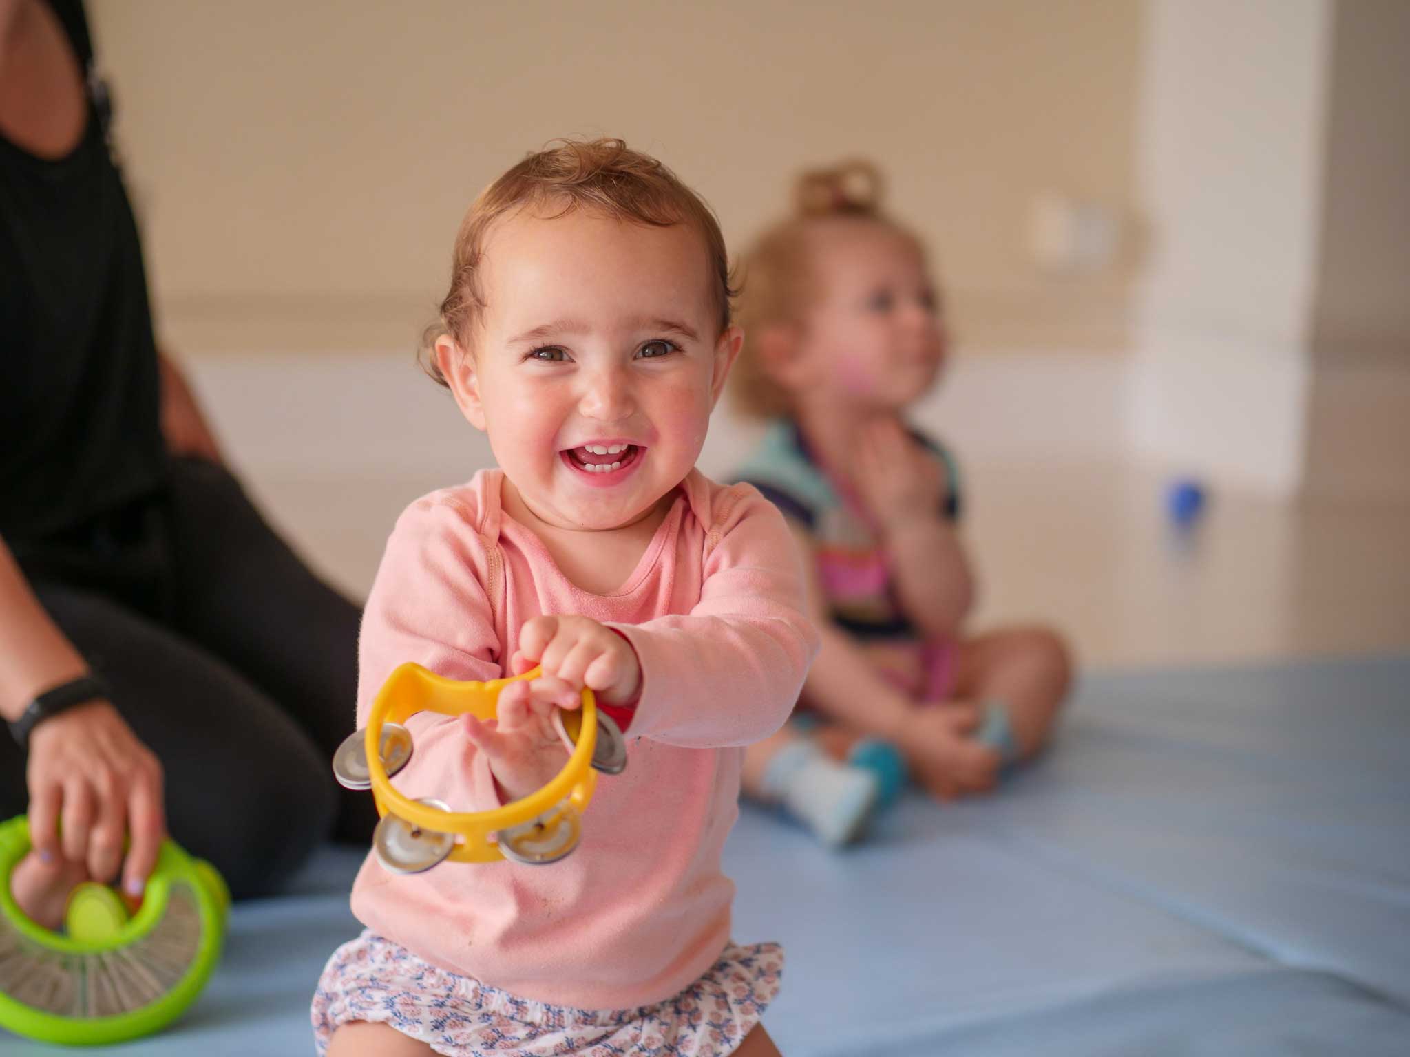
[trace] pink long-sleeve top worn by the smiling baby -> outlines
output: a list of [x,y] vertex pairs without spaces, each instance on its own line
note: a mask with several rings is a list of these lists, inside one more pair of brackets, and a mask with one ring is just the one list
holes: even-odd
[[[352,912],[419,957],[522,998],[585,1009],[660,1002],[729,941],[735,885],[721,851],[739,815],[743,746],[784,723],[818,648],[799,560],[759,492],[697,471],[626,583],[592,595],[501,509],[502,481],[481,471],[398,520],[362,616],[358,724],[396,665],[496,679],[526,620],[578,613],[626,636],[642,662],[626,771],[599,775],[565,860],[443,863],[399,877],[369,854]],[[454,720],[422,713],[410,727],[402,792],[458,810],[499,803],[488,762]]]

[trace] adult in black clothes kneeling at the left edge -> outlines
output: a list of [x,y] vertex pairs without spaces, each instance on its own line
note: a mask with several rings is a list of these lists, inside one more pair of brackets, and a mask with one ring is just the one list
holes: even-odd
[[329,768],[358,610],[158,355],[93,69],[80,0],[0,0],[0,817],[41,920],[85,875],[140,891],[168,827],[238,898],[374,820]]

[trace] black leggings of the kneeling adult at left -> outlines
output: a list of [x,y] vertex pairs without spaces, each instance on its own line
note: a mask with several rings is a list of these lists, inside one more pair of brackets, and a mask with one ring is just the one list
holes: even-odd
[[[330,769],[354,727],[358,609],[235,478],[176,459],[162,500],[14,550],[161,760],[172,837],[235,898],[272,892],[330,836],[371,839],[372,796],[341,789]],[[0,817],[27,801],[24,757],[0,733]]]

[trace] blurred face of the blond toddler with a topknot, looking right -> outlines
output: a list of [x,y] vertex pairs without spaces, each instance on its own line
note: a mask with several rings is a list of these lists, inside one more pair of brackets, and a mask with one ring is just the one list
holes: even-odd
[[916,245],[864,220],[823,221],[811,237],[816,293],[801,348],[808,383],[874,410],[919,399],[945,359],[945,330]]

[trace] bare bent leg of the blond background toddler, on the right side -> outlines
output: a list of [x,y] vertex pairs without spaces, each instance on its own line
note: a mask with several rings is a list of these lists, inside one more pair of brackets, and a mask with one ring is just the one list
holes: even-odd
[[955,695],[1004,705],[1025,760],[1048,744],[1070,684],[1072,654],[1045,627],[1003,629],[959,647]]

